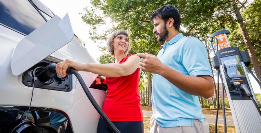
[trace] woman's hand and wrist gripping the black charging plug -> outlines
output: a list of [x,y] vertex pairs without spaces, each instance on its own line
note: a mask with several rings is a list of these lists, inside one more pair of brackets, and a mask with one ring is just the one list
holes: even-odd
[[55,71],[57,74],[64,78],[67,75],[66,71],[69,67],[74,68],[76,71],[82,71],[84,70],[84,66],[84,63],[66,59],[65,61],[62,61],[56,65]]

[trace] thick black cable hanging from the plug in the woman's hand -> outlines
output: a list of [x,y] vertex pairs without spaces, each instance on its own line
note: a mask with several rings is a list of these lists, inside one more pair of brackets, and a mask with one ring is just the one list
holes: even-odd
[[113,125],[113,123],[110,121],[110,119],[107,117],[107,115],[102,111],[100,106],[97,104],[95,99],[93,98],[92,94],[90,93],[88,87],[85,85],[84,80],[82,79],[81,75],[74,69],[69,67],[67,69],[67,74],[74,74],[76,78],[79,80],[81,87],[84,89],[85,94],[89,98],[90,102],[93,104],[93,107],[97,110],[97,112],[102,116],[104,121],[108,124],[108,126],[113,130],[115,133],[120,133],[119,130]]

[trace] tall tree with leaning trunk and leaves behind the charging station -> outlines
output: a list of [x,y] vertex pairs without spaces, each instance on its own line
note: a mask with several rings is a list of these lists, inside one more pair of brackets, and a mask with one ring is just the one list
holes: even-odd
[[[239,5],[239,8],[237,8]],[[240,50],[248,51],[251,58],[250,68],[255,70],[260,81],[261,65],[261,1],[255,0],[246,5],[246,1],[235,3],[235,14],[238,25],[228,26],[231,33],[229,40],[231,46],[237,46]],[[241,9],[241,11],[240,11]],[[244,34],[243,34],[244,33]],[[245,37],[243,37],[243,35]],[[247,35],[247,36],[246,36]],[[248,40],[248,41],[247,41]],[[250,45],[251,44],[251,45]]]

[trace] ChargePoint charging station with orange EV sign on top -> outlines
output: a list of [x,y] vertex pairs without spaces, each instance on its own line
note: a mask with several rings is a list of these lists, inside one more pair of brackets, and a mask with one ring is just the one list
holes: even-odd
[[[221,30],[211,35],[211,39],[215,38],[216,44],[218,44],[218,50],[212,58],[213,65],[221,76],[222,86],[224,86],[229,100],[236,132],[260,133],[260,110],[256,107],[255,94],[246,70],[246,66],[249,67],[250,64],[249,55],[245,51],[240,51],[238,47],[230,47],[226,36],[227,33],[229,31]],[[224,103],[223,115],[225,115]]]

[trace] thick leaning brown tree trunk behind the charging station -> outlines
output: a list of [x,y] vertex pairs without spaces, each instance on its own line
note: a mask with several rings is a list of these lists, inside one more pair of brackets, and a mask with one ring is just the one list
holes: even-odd
[[241,30],[244,42],[246,44],[246,48],[247,48],[249,57],[250,57],[251,62],[253,64],[253,68],[255,70],[255,74],[256,74],[259,82],[261,82],[261,68],[260,68],[260,65],[258,63],[258,59],[257,59],[257,57],[255,55],[255,51],[253,49],[251,41],[249,39],[246,26],[245,26],[245,24],[243,22],[242,16],[241,16],[240,11],[239,11],[239,8],[238,8],[237,3],[235,1],[234,1],[233,9],[234,9],[237,21],[239,23],[239,27],[240,27],[240,30]]

